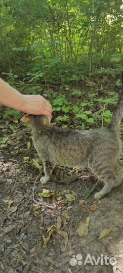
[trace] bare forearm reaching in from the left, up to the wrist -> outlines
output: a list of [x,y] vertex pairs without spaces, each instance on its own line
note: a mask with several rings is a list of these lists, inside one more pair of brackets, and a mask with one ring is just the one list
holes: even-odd
[[22,111],[24,97],[16,89],[0,78],[0,104]]

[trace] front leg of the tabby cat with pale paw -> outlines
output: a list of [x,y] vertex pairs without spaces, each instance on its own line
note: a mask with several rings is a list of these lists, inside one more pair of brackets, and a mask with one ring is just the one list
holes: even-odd
[[46,184],[51,178],[54,166],[53,166],[53,163],[47,160],[43,160],[43,164],[44,164],[45,176],[40,178],[40,182],[42,184]]

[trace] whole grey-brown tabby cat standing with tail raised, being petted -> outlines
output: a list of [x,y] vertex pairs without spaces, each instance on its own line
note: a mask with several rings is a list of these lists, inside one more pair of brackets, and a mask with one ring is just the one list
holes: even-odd
[[110,193],[123,179],[120,163],[121,140],[119,124],[123,116],[123,72],[122,89],[110,124],[104,128],[65,131],[50,125],[44,115],[26,115],[21,121],[30,123],[34,147],[44,163],[45,176],[42,184],[50,180],[55,166],[89,168],[104,183],[96,199]]

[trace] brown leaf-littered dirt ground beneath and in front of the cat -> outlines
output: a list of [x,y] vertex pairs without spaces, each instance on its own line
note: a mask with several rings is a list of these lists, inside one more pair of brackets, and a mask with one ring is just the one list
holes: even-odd
[[[102,185],[75,168],[57,168],[50,183],[40,185],[43,166],[30,128],[6,120],[0,127],[8,138],[0,160],[0,273],[123,272],[123,185],[95,200]],[[38,196],[43,189],[48,197]],[[105,262],[106,255],[114,262]]]

